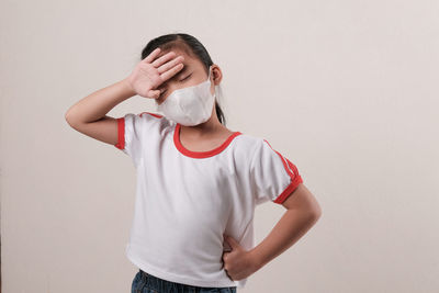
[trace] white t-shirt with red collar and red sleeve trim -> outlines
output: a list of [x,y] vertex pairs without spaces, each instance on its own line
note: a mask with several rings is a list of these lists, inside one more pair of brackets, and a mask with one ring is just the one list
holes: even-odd
[[149,112],[117,119],[119,143],[136,168],[126,257],[158,278],[195,286],[244,288],[223,268],[223,234],[254,248],[255,206],[282,203],[303,182],[297,168],[259,137],[233,133],[191,151],[180,124]]

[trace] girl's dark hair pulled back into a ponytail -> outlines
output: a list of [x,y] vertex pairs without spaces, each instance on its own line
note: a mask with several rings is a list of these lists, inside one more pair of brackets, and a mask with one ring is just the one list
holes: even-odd
[[[160,50],[179,48],[189,56],[198,58],[204,65],[206,75],[209,74],[209,67],[213,65],[211,56],[209,55],[203,44],[201,44],[200,41],[198,41],[194,36],[189,34],[173,33],[173,34],[160,35],[156,38],[153,38],[142,50],[142,59],[145,59],[157,47],[159,47]],[[221,89],[219,89],[219,94],[221,94]],[[217,94],[216,98],[218,98]],[[221,109],[217,99],[215,99],[215,110],[219,123],[225,125],[226,120],[224,116],[224,112]]]

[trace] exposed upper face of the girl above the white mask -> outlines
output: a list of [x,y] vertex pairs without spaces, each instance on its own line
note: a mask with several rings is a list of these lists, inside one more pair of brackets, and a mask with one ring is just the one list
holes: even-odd
[[[157,88],[159,90],[162,90],[160,97],[158,99],[155,99],[157,104],[161,104],[166,100],[166,98],[172,93],[172,91],[196,86],[207,79],[207,75],[205,72],[203,64],[199,59],[189,56],[181,49],[173,48],[171,50],[160,52],[160,55],[157,58],[161,57],[168,52],[175,52],[177,56],[182,55],[184,57],[184,60],[182,61],[183,68],[177,71],[176,75],[173,75],[171,78],[166,80]],[[212,82],[212,93],[214,92],[213,87],[214,84]]]

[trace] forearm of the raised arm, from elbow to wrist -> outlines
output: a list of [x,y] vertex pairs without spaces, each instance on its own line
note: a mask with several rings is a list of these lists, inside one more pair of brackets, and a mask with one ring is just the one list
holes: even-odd
[[98,121],[116,104],[135,94],[126,79],[120,80],[79,100],[66,112],[66,120],[70,124]]

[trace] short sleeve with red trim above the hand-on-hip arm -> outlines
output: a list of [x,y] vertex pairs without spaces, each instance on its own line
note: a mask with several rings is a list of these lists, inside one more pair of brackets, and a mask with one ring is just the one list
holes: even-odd
[[281,204],[303,182],[294,164],[260,138],[250,162],[250,182],[256,204]]

